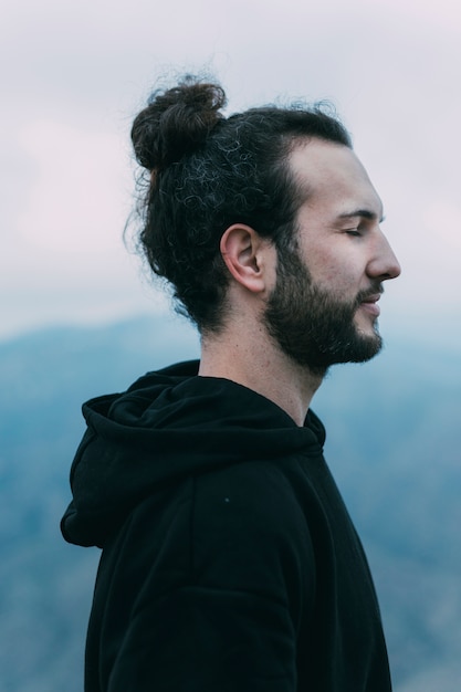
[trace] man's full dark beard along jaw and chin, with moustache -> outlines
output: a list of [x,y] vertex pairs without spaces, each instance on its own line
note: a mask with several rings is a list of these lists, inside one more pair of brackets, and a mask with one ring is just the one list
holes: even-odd
[[279,250],[276,284],[264,311],[264,324],[281,350],[294,363],[325,375],[339,363],[365,363],[383,346],[377,323],[365,334],[354,324],[360,303],[380,284],[362,291],[352,302],[316,286],[296,250]]

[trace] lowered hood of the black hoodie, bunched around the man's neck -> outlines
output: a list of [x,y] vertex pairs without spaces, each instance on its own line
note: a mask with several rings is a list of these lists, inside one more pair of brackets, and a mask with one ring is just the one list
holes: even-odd
[[156,486],[223,464],[318,454],[325,431],[227,379],[198,377],[198,361],[149,373],[126,392],[83,405],[87,430],[71,469],[63,536],[103,546]]

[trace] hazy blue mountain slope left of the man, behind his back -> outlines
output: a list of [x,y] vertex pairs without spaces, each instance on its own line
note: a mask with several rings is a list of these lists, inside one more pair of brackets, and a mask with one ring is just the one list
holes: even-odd
[[0,344],[0,692],[83,689],[98,555],[59,531],[81,403],[197,352],[193,333],[168,318]]

